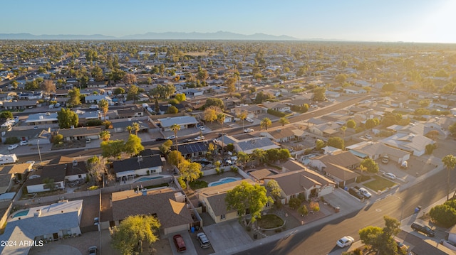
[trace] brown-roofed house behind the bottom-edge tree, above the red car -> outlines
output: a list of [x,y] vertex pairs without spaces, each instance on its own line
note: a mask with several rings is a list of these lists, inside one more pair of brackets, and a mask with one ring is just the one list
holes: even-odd
[[162,234],[187,231],[192,214],[184,201],[177,201],[178,195],[170,188],[113,192],[113,220],[118,225],[128,216],[153,215],[160,220]]

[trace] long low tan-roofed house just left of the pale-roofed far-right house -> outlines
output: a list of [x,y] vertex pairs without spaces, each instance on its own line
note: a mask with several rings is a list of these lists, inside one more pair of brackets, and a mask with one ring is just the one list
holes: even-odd
[[346,149],[358,158],[372,158],[374,161],[383,158],[383,156],[388,156],[389,160],[395,163],[402,163],[410,159],[410,153],[407,151],[387,146],[385,143],[374,143],[373,141],[362,141],[361,143],[347,146]]

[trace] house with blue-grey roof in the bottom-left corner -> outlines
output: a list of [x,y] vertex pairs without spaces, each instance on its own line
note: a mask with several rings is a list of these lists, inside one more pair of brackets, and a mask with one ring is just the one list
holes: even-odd
[[[26,213],[24,213],[26,212]],[[36,246],[45,242],[57,241],[63,237],[81,235],[80,223],[83,213],[83,200],[63,200],[51,205],[31,207],[11,215],[6,224],[2,239],[17,245],[0,246],[0,254],[28,254],[33,245],[19,245],[35,241]]]

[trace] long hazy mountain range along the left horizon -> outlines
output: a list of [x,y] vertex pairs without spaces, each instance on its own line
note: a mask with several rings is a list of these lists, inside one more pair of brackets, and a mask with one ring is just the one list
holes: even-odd
[[271,36],[265,33],[242,35],[218,31],[216,33],[144,33],[130,36],[103,35],[32,35],[31,33],[0,33],[0,40],[301,40],[291,36]]

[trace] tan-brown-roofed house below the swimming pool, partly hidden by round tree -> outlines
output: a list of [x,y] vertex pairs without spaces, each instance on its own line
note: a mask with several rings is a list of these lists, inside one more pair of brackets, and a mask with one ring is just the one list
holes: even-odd
[[[197,190],[197,197],[199,202],[202,203],[203,210],[206,210],[210,217],[214,219],[215,223],[224,222],[230,219],[237,219],[238,215],[236,210],[227,210],[225,197],[227,197],[227,192],[229,190],[232,190],[234,187],[241,184],[242,181],[252,185],[258,184],[253,180],[245,179]],[[264,209],[266,210],[270,207],[271,205],[266,205]]]

